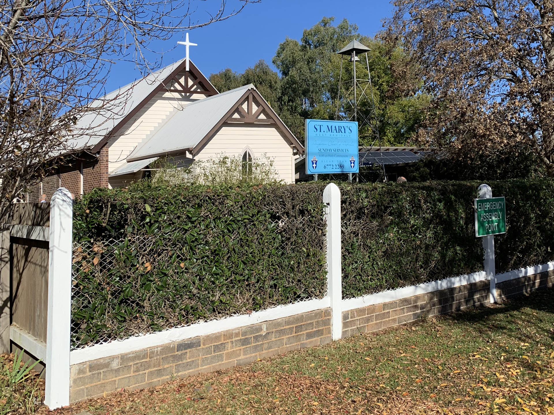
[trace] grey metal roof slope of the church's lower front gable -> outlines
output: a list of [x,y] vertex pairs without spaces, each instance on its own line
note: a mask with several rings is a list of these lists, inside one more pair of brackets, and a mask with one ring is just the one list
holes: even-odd
[[127,160],[137,160],[195,147],[249,89],[249,84],[189,103],[175,111],[137,147]]

